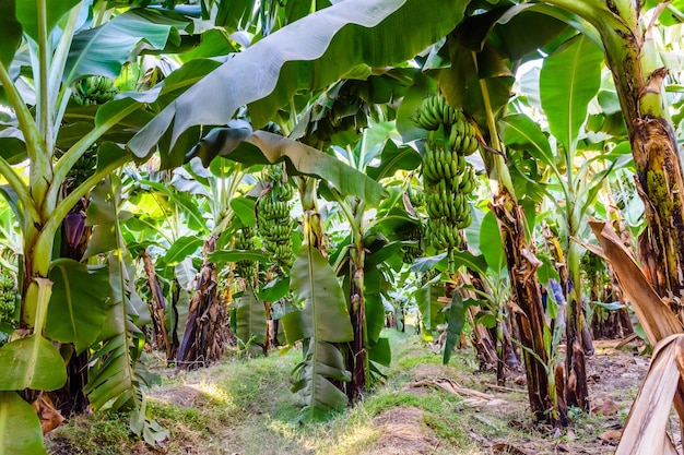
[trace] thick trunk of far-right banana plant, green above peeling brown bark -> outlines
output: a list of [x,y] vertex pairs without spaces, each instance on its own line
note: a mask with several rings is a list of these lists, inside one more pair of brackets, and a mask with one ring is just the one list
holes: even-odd
[[[684,183],[674,130],[667,115],[664,68],[656,68],[656,50],[648,32],[639,28],[639,11],[632,2],[618,2],[617,12],[628,21],[628,35],[606,46],[644,200],[647,228],[639,254],[658,294],[684,292]],[[620,46],[618,46],[620,45]],[[677,301],[674,299],[673,301]],[[673,310],[682,320],[679,306]]]

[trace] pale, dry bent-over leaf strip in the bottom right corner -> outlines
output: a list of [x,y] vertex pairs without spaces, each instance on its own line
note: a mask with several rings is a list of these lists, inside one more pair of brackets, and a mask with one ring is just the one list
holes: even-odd
[[684,335],[658,344],[615,455],[677,454],[667,434],[672,399],[684,373]]

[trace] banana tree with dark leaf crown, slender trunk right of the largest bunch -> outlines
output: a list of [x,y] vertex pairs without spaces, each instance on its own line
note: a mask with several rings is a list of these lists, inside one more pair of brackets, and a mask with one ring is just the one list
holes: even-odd
[[[538,34],[523,31],[535,24]],[[553,43],[567,27],[555,19],[544,19],[517,8],[497,4],[488,11],[467,17],[449,36],[435,58],[426,60],[426,70],[435,79],[449,104],[468,112],[482,131],[481,154],[493,194],[491,209],[497,218],[510,276],[511,295],[521,309],[516,312],[528,376],[532,419],[554,426],[566,422],[552,396],[543,344],[544,314],[536,270],[541,264],[528,236],[528,214],[533,214],[534,199],[520,193],[506,163],[506,149],[499,140],[497,119],[509,101],[516,68],[539,56],[539,48]],[[516,39],[510,39],[511,37]],[[443,59],[450,61],[444,68]],[[516,191],[518,190],[518,191]]]

